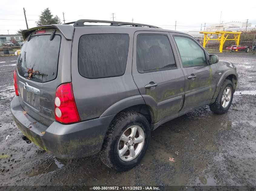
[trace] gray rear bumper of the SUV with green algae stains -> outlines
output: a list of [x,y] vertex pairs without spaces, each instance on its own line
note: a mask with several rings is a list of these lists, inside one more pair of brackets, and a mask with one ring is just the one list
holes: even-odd
[[50,126],[23,114],[19,99],[11,102],[11,112],[22,133],[37,146],[58,158],[71,159],[96,154],[101,150],[106,131],[115,115],[73,124],[53,122]]

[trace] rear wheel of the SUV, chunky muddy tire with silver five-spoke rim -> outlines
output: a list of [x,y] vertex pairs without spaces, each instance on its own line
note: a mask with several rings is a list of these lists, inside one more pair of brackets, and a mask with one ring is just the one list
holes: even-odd
[[[129,132],[130,129],[136,129],[133,131],[136,131],[136,135],[132,139],[128,138],[132,134],[132,130]],[[143,135],[142,132],[144,133],[144,138],[141,137]],[[120,172],[135,167],[146,153],[150,133],[150,125],[143,115],[130,111],[118,113],[109,126],[102,149],[99,153],[102,162],[109,168]],[[127,135],[125,140],[128,140],[128,142],[121,140],[122,135]],[[141,139],[143,141],[141,141]],[[131,145],[132,141],[138,142],[138,140],[141,142]],[[121,156],[122,149],[125,150],[127,147],[130,148],[124,151],[125,153]],[[134,150],[132,150],[132,148],[134,148]]]

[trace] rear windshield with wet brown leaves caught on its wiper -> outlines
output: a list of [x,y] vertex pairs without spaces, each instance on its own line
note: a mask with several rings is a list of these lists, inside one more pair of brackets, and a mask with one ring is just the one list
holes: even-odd
[[[47,82],[56,78],[61,36],[38,35],[25,41],[18,57],[19,75],[29,78],[29,72],[35,72],[29,78],[32,81]],[[33,71],[32,71],[33,72]]]

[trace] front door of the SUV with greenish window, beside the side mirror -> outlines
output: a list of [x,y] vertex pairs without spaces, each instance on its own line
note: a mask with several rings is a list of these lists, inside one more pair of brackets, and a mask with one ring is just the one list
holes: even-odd
[[200,44],[188,35],[173,39],[185,76],[185,101],[182,110],[212,99],[217,86],[217,69],[210,65],[208,54]]

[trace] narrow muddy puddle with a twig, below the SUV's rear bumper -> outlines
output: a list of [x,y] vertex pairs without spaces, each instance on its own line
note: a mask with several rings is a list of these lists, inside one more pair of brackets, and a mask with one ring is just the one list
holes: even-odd
[[52,163],[50,163],[49,165],[46,164],[45,166],[40,167],[38,169],[35,169],[35,167],[33,167],[33,170],[30,173],[28,173],[27,175],[29,177],[33,177],[33,176],[37,176],[39,174],[52,172],[56,169],[62,168],[65,164],[66,164],[66,160],[55,158],[54,161],[52,161]]

